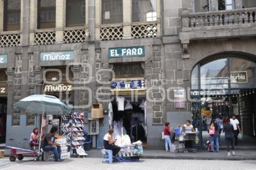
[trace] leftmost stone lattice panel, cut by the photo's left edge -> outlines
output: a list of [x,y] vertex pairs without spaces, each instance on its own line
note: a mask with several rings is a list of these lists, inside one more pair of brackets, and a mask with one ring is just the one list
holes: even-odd
[[20,34],[0,35],[0,47],[15,47],[20,44]]

